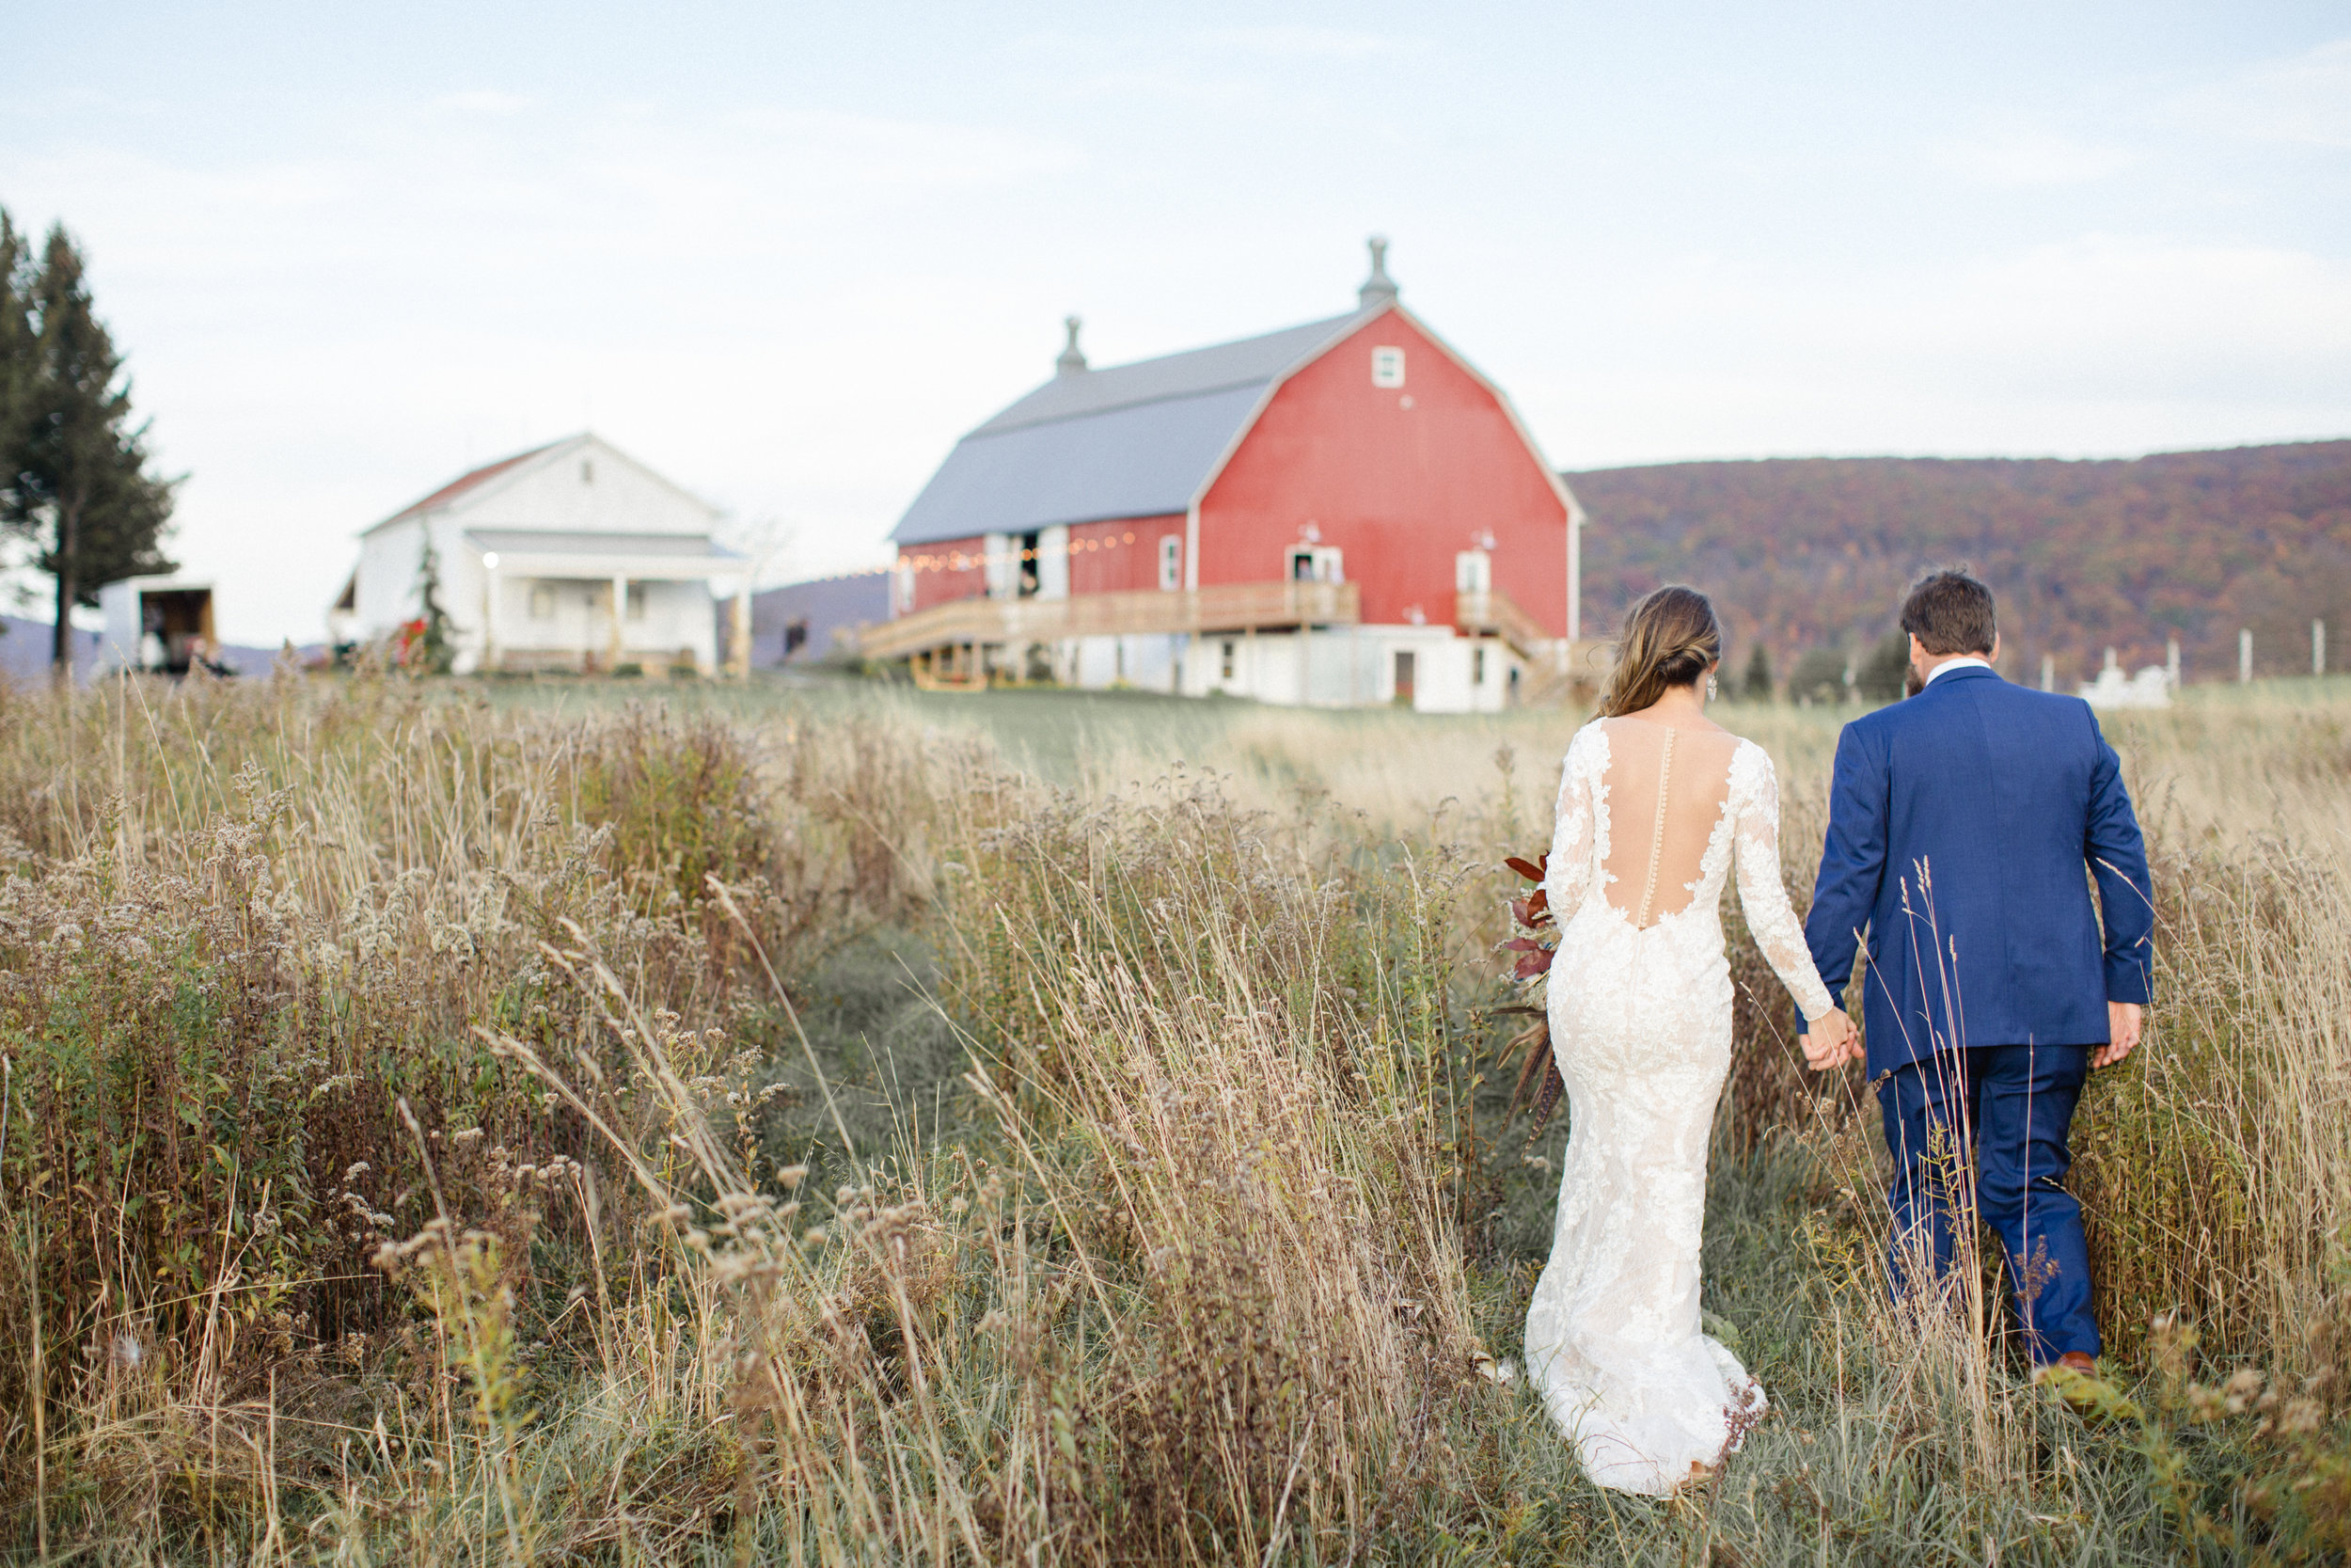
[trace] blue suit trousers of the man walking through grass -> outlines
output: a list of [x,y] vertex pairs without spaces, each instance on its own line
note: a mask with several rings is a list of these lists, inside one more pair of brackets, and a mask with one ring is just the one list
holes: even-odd
[[[1895,1293],[1944,1279],[1958,1253],[1954,1192],[1998,1232],[2034,1366],[2099,1352],[2090,1246],[2064,1190],[2067,1133],[2090,1077],[2090,1046],[1970,1046],[1895,1067],[1878,1088],[1895,1157]],[[1968,1180],[1972,1178],[1972,1180]],[[1963,1213],[1963,1208],[1961,1208]],[[1970,1237],[1972,1239],[1972,1237]],[[1972,1248],[1970,1248],[1972,1251]]]

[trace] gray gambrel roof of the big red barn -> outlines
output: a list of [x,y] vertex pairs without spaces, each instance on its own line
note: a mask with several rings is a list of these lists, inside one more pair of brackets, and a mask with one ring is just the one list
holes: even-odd
[[1183,512],[1267,383],[1373,315],[1056,376],[959,440],[891,538],[926,545]]

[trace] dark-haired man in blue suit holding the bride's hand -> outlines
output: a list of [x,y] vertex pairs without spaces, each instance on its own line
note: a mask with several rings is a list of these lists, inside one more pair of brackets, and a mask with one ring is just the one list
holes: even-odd
[[[1867,950],[1869,1077],[1895,1157],[1895,1288],[1951,1267],[1954,1187],[1972,1175],[2036,1375],[2092,1371],[2067,1131],[2090,1070],[2139,1044],[2154,954],[2146,846],[2090,705],[1994,672],[1989,588],[1935,571],[1902,604],[1902,630],[1923,689],[1838,736],[1806,919],[1831,990]],[[1850,1037],[1803,1048],[1815,1070],[1862,1053]]]

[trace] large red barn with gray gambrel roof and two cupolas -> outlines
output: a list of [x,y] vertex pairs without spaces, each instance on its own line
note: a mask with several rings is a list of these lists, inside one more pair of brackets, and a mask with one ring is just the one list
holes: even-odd
[[1568,668],[1582,510],[1509,400],[1396,301],[1056,376],[898,520],[868,656],[926,682],[1512,703]]

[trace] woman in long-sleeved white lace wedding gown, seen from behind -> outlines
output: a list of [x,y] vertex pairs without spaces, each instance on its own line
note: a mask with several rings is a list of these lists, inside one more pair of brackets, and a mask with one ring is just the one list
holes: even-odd
[[1653,1497],[1709,1474],[1763,1415],[1756,1380],[1697,1331],[1707,1133],[1730,1070],[1733,865],[1815,1048],[1853,1030],[1780,886],[1770,757],[1707,719],[1721,658],[1704,595],[1660,588],[1632,609],[1601,717],[1568,745],[1545,875],[1570,1121],[1526,1368],[1585,1474]]

